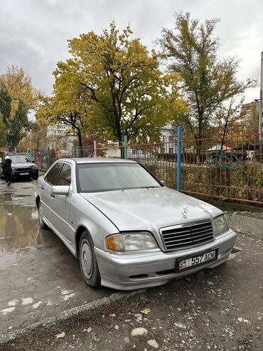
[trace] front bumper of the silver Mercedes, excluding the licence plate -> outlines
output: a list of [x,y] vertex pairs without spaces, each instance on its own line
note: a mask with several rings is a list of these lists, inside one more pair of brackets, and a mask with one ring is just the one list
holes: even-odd
[[[216,237],[215,240],[202,246],[171,252],[151,251],[116,254],[95,248],[102,285],[119,290],[148,288],[163,285],[172,279],[186,276],[203,268],[214,268],[227,261],[235,245],[236,237],[235,231],[229,229],[224,234]],[[214,248],[218,248],[217,261],[176,273],[177,258],[195,256]]]

